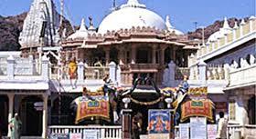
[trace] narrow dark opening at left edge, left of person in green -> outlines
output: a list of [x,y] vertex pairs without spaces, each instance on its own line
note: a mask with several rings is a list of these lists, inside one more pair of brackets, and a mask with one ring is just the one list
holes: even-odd
[[8,97],[0,95],[0,128],[3,135],[8,133]]

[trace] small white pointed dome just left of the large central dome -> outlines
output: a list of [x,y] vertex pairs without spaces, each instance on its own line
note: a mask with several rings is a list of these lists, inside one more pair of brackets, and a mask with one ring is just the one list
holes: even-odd
[[72,35],[69,35],[68,39],[79,39],[79,38],[86,38],[88,36],[88,31],[85,27],[85,22],[84,22],[84,19],[81,20],[81,23],[80,23],[80,29],[77,30],[74,34]]

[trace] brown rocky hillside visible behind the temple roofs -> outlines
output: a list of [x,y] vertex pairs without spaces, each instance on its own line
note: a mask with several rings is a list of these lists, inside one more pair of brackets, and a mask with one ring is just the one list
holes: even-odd
[[[18,37],[22,31],[23,22],[27,16],[27,13],[15,16],[1,16],[0,15],[0,51],[18,51],[20,45],[18,44]],[[248,18],[245,18],[247,21]],[[229,25],[234,26],[235,21],[240,23],[240,19],[229,18]],[[209,35],[217,32],[219,28],[223,25],[222,21],[215,21],[213,25],[208,25],[205,28],[205,38],[207,39]],[[64,20],[63,26],[61,28],[67,28],[67,35],[73,33],[72,27],[68,20]],[[75,28],[77,28],[75,26]],[[60,30],[61,32],[61,30]],[[202,29],[198,28],[194,32],[187,33],[189,39],[201,39],[202,38]]]

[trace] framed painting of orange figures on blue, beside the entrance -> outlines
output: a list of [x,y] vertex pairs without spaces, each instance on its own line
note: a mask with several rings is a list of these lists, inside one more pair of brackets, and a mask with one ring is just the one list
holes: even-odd
[[171,127],[171,114],[169,110],[149,110],[149,134],[169,134]]

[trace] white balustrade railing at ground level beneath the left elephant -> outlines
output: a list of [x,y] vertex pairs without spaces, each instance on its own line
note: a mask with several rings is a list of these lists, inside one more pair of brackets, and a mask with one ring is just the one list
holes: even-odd
[[94,130],[100,139],[121,139],[121,126],[48,126],[49,134],[83,134],[84,130]]

